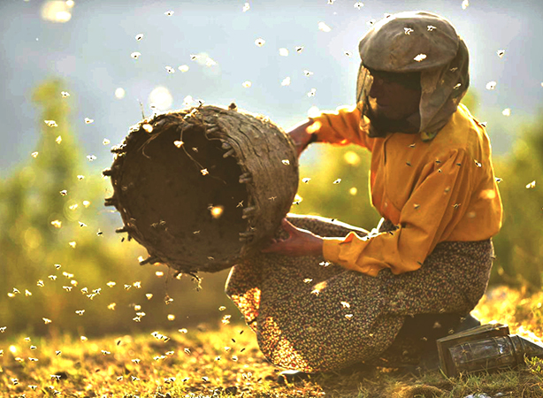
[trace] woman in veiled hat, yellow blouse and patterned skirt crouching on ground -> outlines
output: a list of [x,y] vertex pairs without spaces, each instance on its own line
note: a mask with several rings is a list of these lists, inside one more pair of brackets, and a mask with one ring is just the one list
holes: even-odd
[[501,228],[490,142],[460,104],[468,50],[455,28],[403,12],[375,24],[359,50],[356,106],[289,134],[298,155],[311,142],[369,149],[382,222],[367,233],[288,217],[226,283],[264,356],[286,369],[416,362],[484,295]]

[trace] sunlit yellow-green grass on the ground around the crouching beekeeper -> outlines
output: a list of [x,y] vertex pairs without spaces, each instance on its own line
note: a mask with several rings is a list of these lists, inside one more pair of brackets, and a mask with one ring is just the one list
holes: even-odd
[[[512,333],[537,340],[543,334],[541,302],[542,293],[528,296],[500,287],[483,298],[474,314],[484,323],[507,323]],[[2,397],[543,396],[543,361],[537,358],[514,371],[457,379],[439,371],[417,376],[378,368],[327,373],[281,386],[276,382],[280,370],[266,362],[245,325],[87,341],[69,336],[29,341],[19,336],[3,341],[0,348]]]

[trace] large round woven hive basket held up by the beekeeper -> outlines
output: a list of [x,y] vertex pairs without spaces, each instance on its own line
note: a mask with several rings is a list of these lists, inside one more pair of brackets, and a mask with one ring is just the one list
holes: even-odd
[[298,187],[294,144],[269,119],[217,106],[131,128],[110,170],[119,232],[180,272],[217,272],[260,249]]

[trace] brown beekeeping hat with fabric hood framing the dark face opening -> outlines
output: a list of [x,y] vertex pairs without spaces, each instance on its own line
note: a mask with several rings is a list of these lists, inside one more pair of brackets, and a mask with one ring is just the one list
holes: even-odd
[[[470,85],[465,43],[447,19],[430,12],[401,12],[382,19],[363,36],[358,48],[362,63],[356,103],[363,114],[361,128],[371,136],[393,132],[379,132],[371,126],[375,106],[375,98],[370,96],[371,71],[420,73],[418,114],[402,123],[407,126],[406,132],[421,133],[424,141],[431,140],[447,124]],[[409,131],[412,126],[418,127],[416,131]]]

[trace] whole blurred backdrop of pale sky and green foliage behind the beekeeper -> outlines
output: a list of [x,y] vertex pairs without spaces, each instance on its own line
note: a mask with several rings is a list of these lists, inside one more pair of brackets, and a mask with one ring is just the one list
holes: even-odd
[[[140,267],[146,251],[114,233],[122,222],[103,207],[101,174],[111,146],[142,113],[198,101],[235,102],[286,130],[354,103],[358,41],[411,10],[450,19],[470,49],[463,102],[487,123],[505,207],[491,283],[539,290],[539,0],[16,0],[0,3],[0,339],[240,322],[227,270],[202,274],[197,290],[164,265]],[[313,145],[292,211],[371,229],[368,162],[363,149]]]

